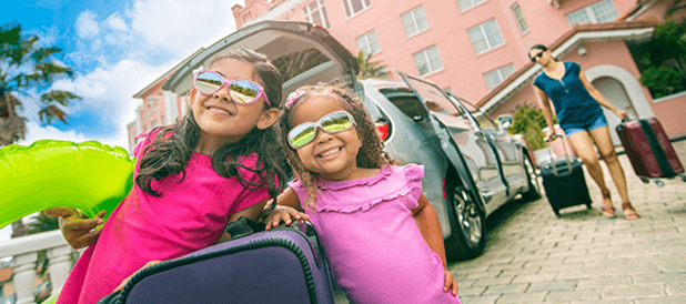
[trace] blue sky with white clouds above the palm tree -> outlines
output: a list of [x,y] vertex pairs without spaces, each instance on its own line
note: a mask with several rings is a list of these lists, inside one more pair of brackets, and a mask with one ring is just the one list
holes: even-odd
[[[235,31],[231,12],[243,0],[14,0],[2,1],[0,24],[19,22],[24,33],[63,49],[73,79],[53,89],[83,100],[67,113],[69,124],[41,125],[38,105],[23,100],[28,145],[40,139],[97,140],[128,149],[127,123],[141,103],[133,94],[195,50]],[[0,230],[0,241],[9,236]]]

